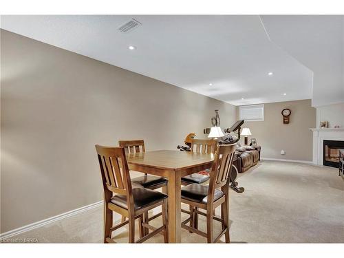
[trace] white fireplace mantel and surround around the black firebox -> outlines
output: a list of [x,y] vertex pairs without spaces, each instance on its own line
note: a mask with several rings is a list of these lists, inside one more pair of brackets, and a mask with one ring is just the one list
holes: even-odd
[[313,132],[313,164],[323,165],[323,141],[344,140],[344,128],[310,128]]

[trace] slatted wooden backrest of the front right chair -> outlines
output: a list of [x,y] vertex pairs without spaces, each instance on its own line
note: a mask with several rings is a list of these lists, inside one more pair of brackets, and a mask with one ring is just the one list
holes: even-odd
[[230,172],[232,170],[235,149],[236,144],[219,145],[219,147],[217,147],[214,163],[210,173],[209,195],[214,194],[215,189],[228,183],[228,178],[230,177]]

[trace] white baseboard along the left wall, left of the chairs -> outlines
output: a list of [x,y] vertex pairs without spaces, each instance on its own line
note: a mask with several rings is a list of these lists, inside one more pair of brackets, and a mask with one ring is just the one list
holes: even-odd
[[21,233],[32,230],[34,228],[39,228],[41,226],[45,226],[45,225],[50,224],[52,222],[57,222],[58,220],[74,216],[78,213],[84,213],[85,211],[88,211],[92,208],[96,208],[96,207],[102,206],[102,205],[103,205],[103,200],[99,201],[99,202],[95,202],[94,204],[89,204],[89,205],[86,205],[86,206],[83,206],[80,208],[76,208],[75,210],[72,210],[72,211],[67,211],[67,213],[62,213],[62,214],[56,215],[54,217],[48,217],[47,219],[43,219],[39,222],[34,222],[32,224],[28,224],[28,225],[22,226],[20,228],[15,228],[13,230],[10,230],[10,231],[7,231],[5,233],[0,234],[0,240],[6,239],[8,237],[13,237],[14,235],[19,235]]

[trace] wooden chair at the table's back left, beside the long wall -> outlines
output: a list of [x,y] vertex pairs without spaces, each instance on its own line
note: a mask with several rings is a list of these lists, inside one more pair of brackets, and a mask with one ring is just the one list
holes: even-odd
[[[140,153],[145,151],[144,140],[119,140],[118,145],[125,148],[125,153]],[[147,175],[147,173],[145,173],[138,178],[133,178],[131,182],[151,190],[162,188],[162,193],[167,193],[167,183],[169,181],[166,180],[166,178],[157,177],[155,175]],[[148,213],[144,213],[144,223],[148,223],[160,215],[161,213],[158,213],[149,218]],[[122,222],[125,222],[125,216],[122,216]],[[144,228],[144,235],[147,235],[148,233],[148,228]]]

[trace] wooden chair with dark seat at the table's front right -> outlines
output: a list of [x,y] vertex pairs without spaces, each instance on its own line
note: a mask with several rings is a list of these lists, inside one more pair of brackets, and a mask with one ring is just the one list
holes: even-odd
[[[234,152],[235,144],[220,145],[215,154],[209,185],[189,184],[182,188],[182,203],[193,207],[190,217],[182,222],[182,228],[206,237],[208,243],[218,241],[222,235],[225,235],[226,243],[230,242],[228,189]],[[221,217],[216,217],[213,211],[219,205],[221,205]],[[199,211],[200,208],[206,210],[206,213]],[[206,216],[206,233],[198,230],[197,215]],[[213,236],[213,219],[222,223],[222,231],[215,238]],[[188,222],[193,223],[191,223],[191,226],[186,226]]]

